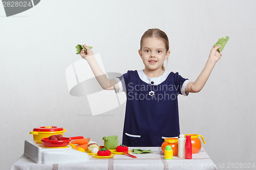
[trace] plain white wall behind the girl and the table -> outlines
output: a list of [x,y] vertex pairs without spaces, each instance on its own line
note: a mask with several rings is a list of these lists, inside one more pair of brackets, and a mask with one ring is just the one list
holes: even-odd
[[[229,36],[203,90],[179,101],[181,133],[204,136],[217,165],[256,163],[255,1],[41,1],[6,17],[0,7],[1,169],[23,154],[35,127],[60,126],[65,136],[121,142],[125,105],[91,116],[87,98],[68,92],[65,70],[80,59],[75,45],[100,53],[107,72],[143,69],[140,38],[149,28],[168,35],[168,71],[195,81],[210,48]],[[111,126],[102,127],[108,121]]]

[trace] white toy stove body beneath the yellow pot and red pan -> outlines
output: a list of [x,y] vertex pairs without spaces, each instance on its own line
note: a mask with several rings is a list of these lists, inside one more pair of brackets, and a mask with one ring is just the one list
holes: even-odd
[[72,149],[70,145],[67,148],[45,148],[43,144],[25,140],[24,155],[28,156],[35,163],[67,163],[81,162],[89,160],[86,152]]

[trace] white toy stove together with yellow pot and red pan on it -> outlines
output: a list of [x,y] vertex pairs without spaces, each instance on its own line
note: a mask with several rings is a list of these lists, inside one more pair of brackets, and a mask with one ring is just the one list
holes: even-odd
[[82,136],[62,137],[61,140],[49,140],[52,135],[63,135],[66,129],[55,126],[34,128],[34,141],[25,140],[24,155],[28,156],[35,163],[62,163],[79,162],[89,160],[89,154],[82,148],[76,149],[71,140],[82,139]]

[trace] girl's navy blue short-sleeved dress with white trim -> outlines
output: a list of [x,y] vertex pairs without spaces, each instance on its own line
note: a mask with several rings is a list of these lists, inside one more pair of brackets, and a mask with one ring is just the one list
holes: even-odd
[[187,79],[168,72],[162,83],[154,85],[142,81],[137,70],[118,78],[127,96],[122,144],[160,147],[164,137],[179,136],[178,94]]

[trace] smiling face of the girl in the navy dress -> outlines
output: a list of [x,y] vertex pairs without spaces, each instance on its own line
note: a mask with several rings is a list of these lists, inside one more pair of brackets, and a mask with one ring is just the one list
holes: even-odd
[[150,37],[143,39],[142,50],[139,50],[139,54],[145,65],[145,69],[160,71],[170,51],[166,50],[162,39]]

